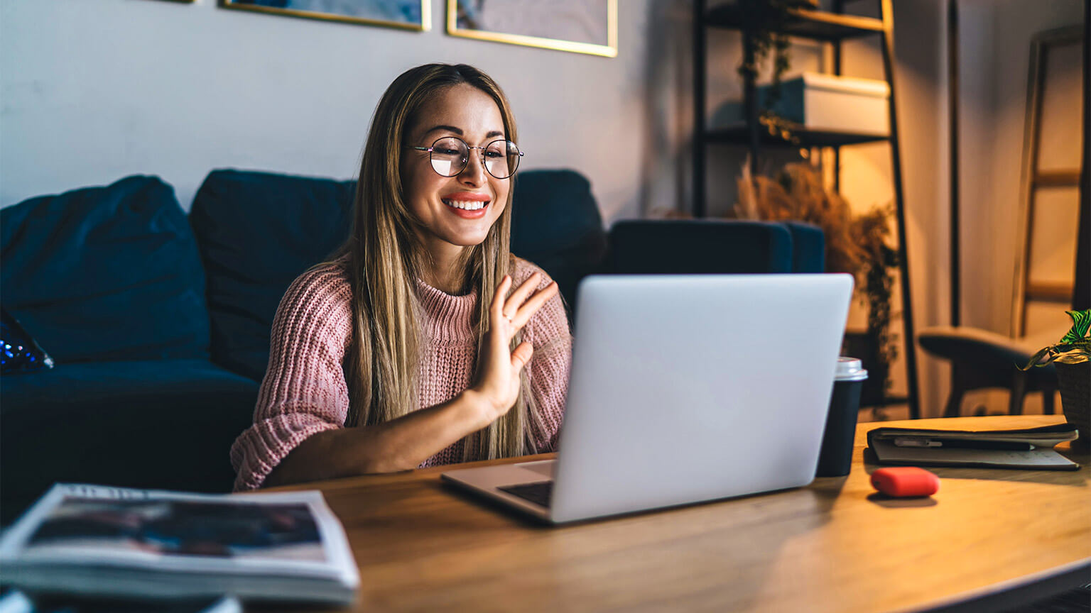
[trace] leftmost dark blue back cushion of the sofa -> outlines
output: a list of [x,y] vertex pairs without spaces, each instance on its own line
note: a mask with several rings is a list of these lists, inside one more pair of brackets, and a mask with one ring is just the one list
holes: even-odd
[[0,288],[59,363],[208,354],[196,243],[156,177],[0,211]]

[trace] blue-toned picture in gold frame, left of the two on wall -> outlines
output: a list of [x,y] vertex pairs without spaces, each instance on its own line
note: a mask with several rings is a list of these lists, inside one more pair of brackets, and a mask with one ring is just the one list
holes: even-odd
[[225,9],[427,32],[430,0],[219,0]]

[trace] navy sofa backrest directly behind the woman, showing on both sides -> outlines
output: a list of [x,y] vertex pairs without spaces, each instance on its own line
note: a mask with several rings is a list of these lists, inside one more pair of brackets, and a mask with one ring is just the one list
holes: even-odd
[[[512,252],[571,299],[597,268],[606,231],[590,184],[573,170],[527,170],[513,195]],[[348,237],[355,181],[215,170],[190,212],[207,277],[213,360],[254,380],[268,361],[284,292]]]

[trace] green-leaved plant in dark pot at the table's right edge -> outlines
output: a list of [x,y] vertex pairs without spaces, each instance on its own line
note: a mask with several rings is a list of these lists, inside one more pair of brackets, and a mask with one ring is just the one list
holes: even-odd
[[1072,318],[1072,327],[1056,345],[1043,348],[1021,366],[1053,364],[1057,369],[1057,386],[1060,387],[1060,408],[1065,419],[1080,431],[1075,444],[1087,448],[1091,445],[1091,309],[1087,311],[1065,311]]

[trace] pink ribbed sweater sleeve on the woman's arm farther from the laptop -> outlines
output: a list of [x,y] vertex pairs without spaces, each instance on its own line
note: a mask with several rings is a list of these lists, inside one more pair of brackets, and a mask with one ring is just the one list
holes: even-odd
[[341,362],[352,333],[351,287],[336,267],[299,276],[277,308],[254,423],[231,445],[235,489],[260,488],[304,438],[343,428],[348,386]]

